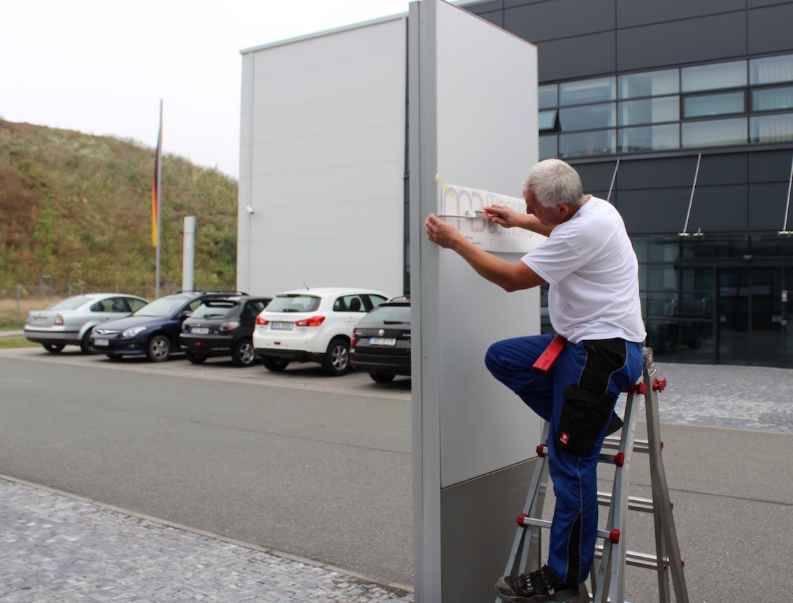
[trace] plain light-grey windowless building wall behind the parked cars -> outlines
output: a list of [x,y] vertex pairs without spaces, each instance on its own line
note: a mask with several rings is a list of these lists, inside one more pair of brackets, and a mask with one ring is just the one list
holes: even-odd
[[240,290],[402,293],[406,61],[404,17],[243,51]]

